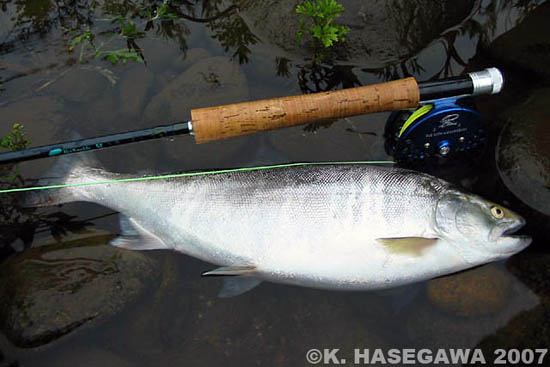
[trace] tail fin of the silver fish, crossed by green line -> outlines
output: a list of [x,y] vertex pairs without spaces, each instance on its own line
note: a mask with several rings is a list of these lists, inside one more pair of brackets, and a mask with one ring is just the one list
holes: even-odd
[[[83,182],[85,171],[89,171],[90,167],[99,167],[99,162],[89,153],[55,158],[52,166],[36,184],[41,189],[26,192],[20,204],[24,207],[42,207],[84,200],[82,189],[57,186]],[[48,186],[52,187],[47,188]]]

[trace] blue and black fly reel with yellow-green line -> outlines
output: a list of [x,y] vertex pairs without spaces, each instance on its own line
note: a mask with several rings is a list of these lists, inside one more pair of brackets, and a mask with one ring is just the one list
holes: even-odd
[[471,97],[452,97],[393,112],[384,139],[386,153],[400,165],[429,169],[481,156],[487,131]]

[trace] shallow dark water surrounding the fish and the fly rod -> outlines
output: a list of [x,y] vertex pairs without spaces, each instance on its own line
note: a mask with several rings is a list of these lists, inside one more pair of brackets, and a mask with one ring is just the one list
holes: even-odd
[[[266,2],[266,7],[271,3]],[[476,99],[489,131],[485,153],[466,165],[441,167],[433,173],[510,206],[527,218],[524,232],[534,237],[527,250],[509,261],[461,273],[449,281],[364,293],[263,283],[229,299],[216,297],[219,281],[200,278],[210,264],[174,252],[148,252],[145,256],[158,264],[162,274],[160,284],[151,280],[137,301],[114,316],[43,346],[21,348],[2,337],[0,365],[17,361],[19,366],[301,366],[308,365],[306,352],[312,348],[339,348],[339,357],[346,358],[348,365],[353,365],[355,348],[429,348],[435,352],[437,348],[476,347],[491,361],[498,348],[547,348],[549,220],[503,184],[495,147],[504,128],[503,112],[529,100],[549,79],[536,68],[495,56],[498,52],[492,49],[500,36],[540,10],[540,3],[473,1],[464,14],[448,14],[454,24],[435,35],[431,35],[433,29],[426,30],[431,37],[427,41],[428,36],[420,34],[388,45],[406,45],[407,53],[361,59],[360,54],[344,57],[336,52],[333,64],[312,69],[304,59],[307,47],[281,46],[279,39],[270,38],[268,23],[254,24],[255,13],[247,12],[245,2],[182,2],[178,9],[186,15],[184,19],[154,21],[144,37],[135,37],[146,64],[128,60],[116,65],[94,58],[85,42],[69,51],[71,41],[89,27],[101,50],[127,47],[126,39],[100,32],[113,28],[120,32],[116,28],[120,23],[106,19],[121,14],[127,17],[124,22],[133,19],[138,30],[144,30],[147,22],[136,17],[136,12],[141,9],[143,14],[145,4],[0,2],[0,136],[18,122],[25,126],[33,146],[71,139],[75,131],[81,136],[100,136],[185,121],[189,111],[198,107],[408,75],[426,80],[499,67],[507,78],[504,91]],[[387,4],[391,9],[396,2]],[[239,11],[232,10],[236,5],[241,6]],[[369,19],[368,8],[355,11]],[[395,12],[398,19],[400,14]],[[215,20],[198,21],[208,18]],[[354,14],[343,19],[351,22]],[[376,42],[372,40],[373,49]],[[135,175],[296,161],[391,159],[383,139],[388,116],[358,116],[326,128],[296,127],[203,145],[195,145],[189,136],[177,137],[94,154],[108,170]],[[21,176],[32,183],[50,163],[21,163]],[[88,222],[87,228],[100,229],[103,234],[119,232],[117,215],[98,205],[72,203],[34,215],[43,218],[58,211],[66,215],[43,221],[32,240],[24,236],[27,228],[21,229],[8,221],[13,217],[4,215],[4,256],[13,252],[12,245],[21,250],[55,241],[52,231],[61,243],[72,241],[83,221]],[[44,300],[44,307],[54,306]]]

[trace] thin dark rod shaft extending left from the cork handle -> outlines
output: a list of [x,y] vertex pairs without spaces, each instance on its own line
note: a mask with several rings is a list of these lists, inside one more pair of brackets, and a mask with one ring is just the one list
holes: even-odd
[[63,154],[84,152],[87,150],[107,148],[143,140],[185,134],[189,134],[189,125],[187,122],[180,122],[174,125],[157,126],[121,134],[74,140],[65,143],[44,145],[36,148],[2,153],[0,154],[0,164],[15,163],[37,158],[55,157]]

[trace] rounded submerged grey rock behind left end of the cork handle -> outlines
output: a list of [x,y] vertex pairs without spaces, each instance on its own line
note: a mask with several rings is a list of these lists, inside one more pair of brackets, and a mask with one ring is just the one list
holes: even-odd
[[[200,50],[191,53],[195,63],[171,79],[151,99],[145,109],[146,123],[186,121],[191,118],[192,109],[249,100],[246,76],[237,63],[220,56],[201,59],[202,55],[205,53]],[[168,74],[170,77],[171,73]],[[221,161],[231,156],[246,139],[241,137],[199,145],[163,142],[162,162],[157,160],[154,164],[158,170],[165,171],[180,170],[182,167],[223,168]]]

